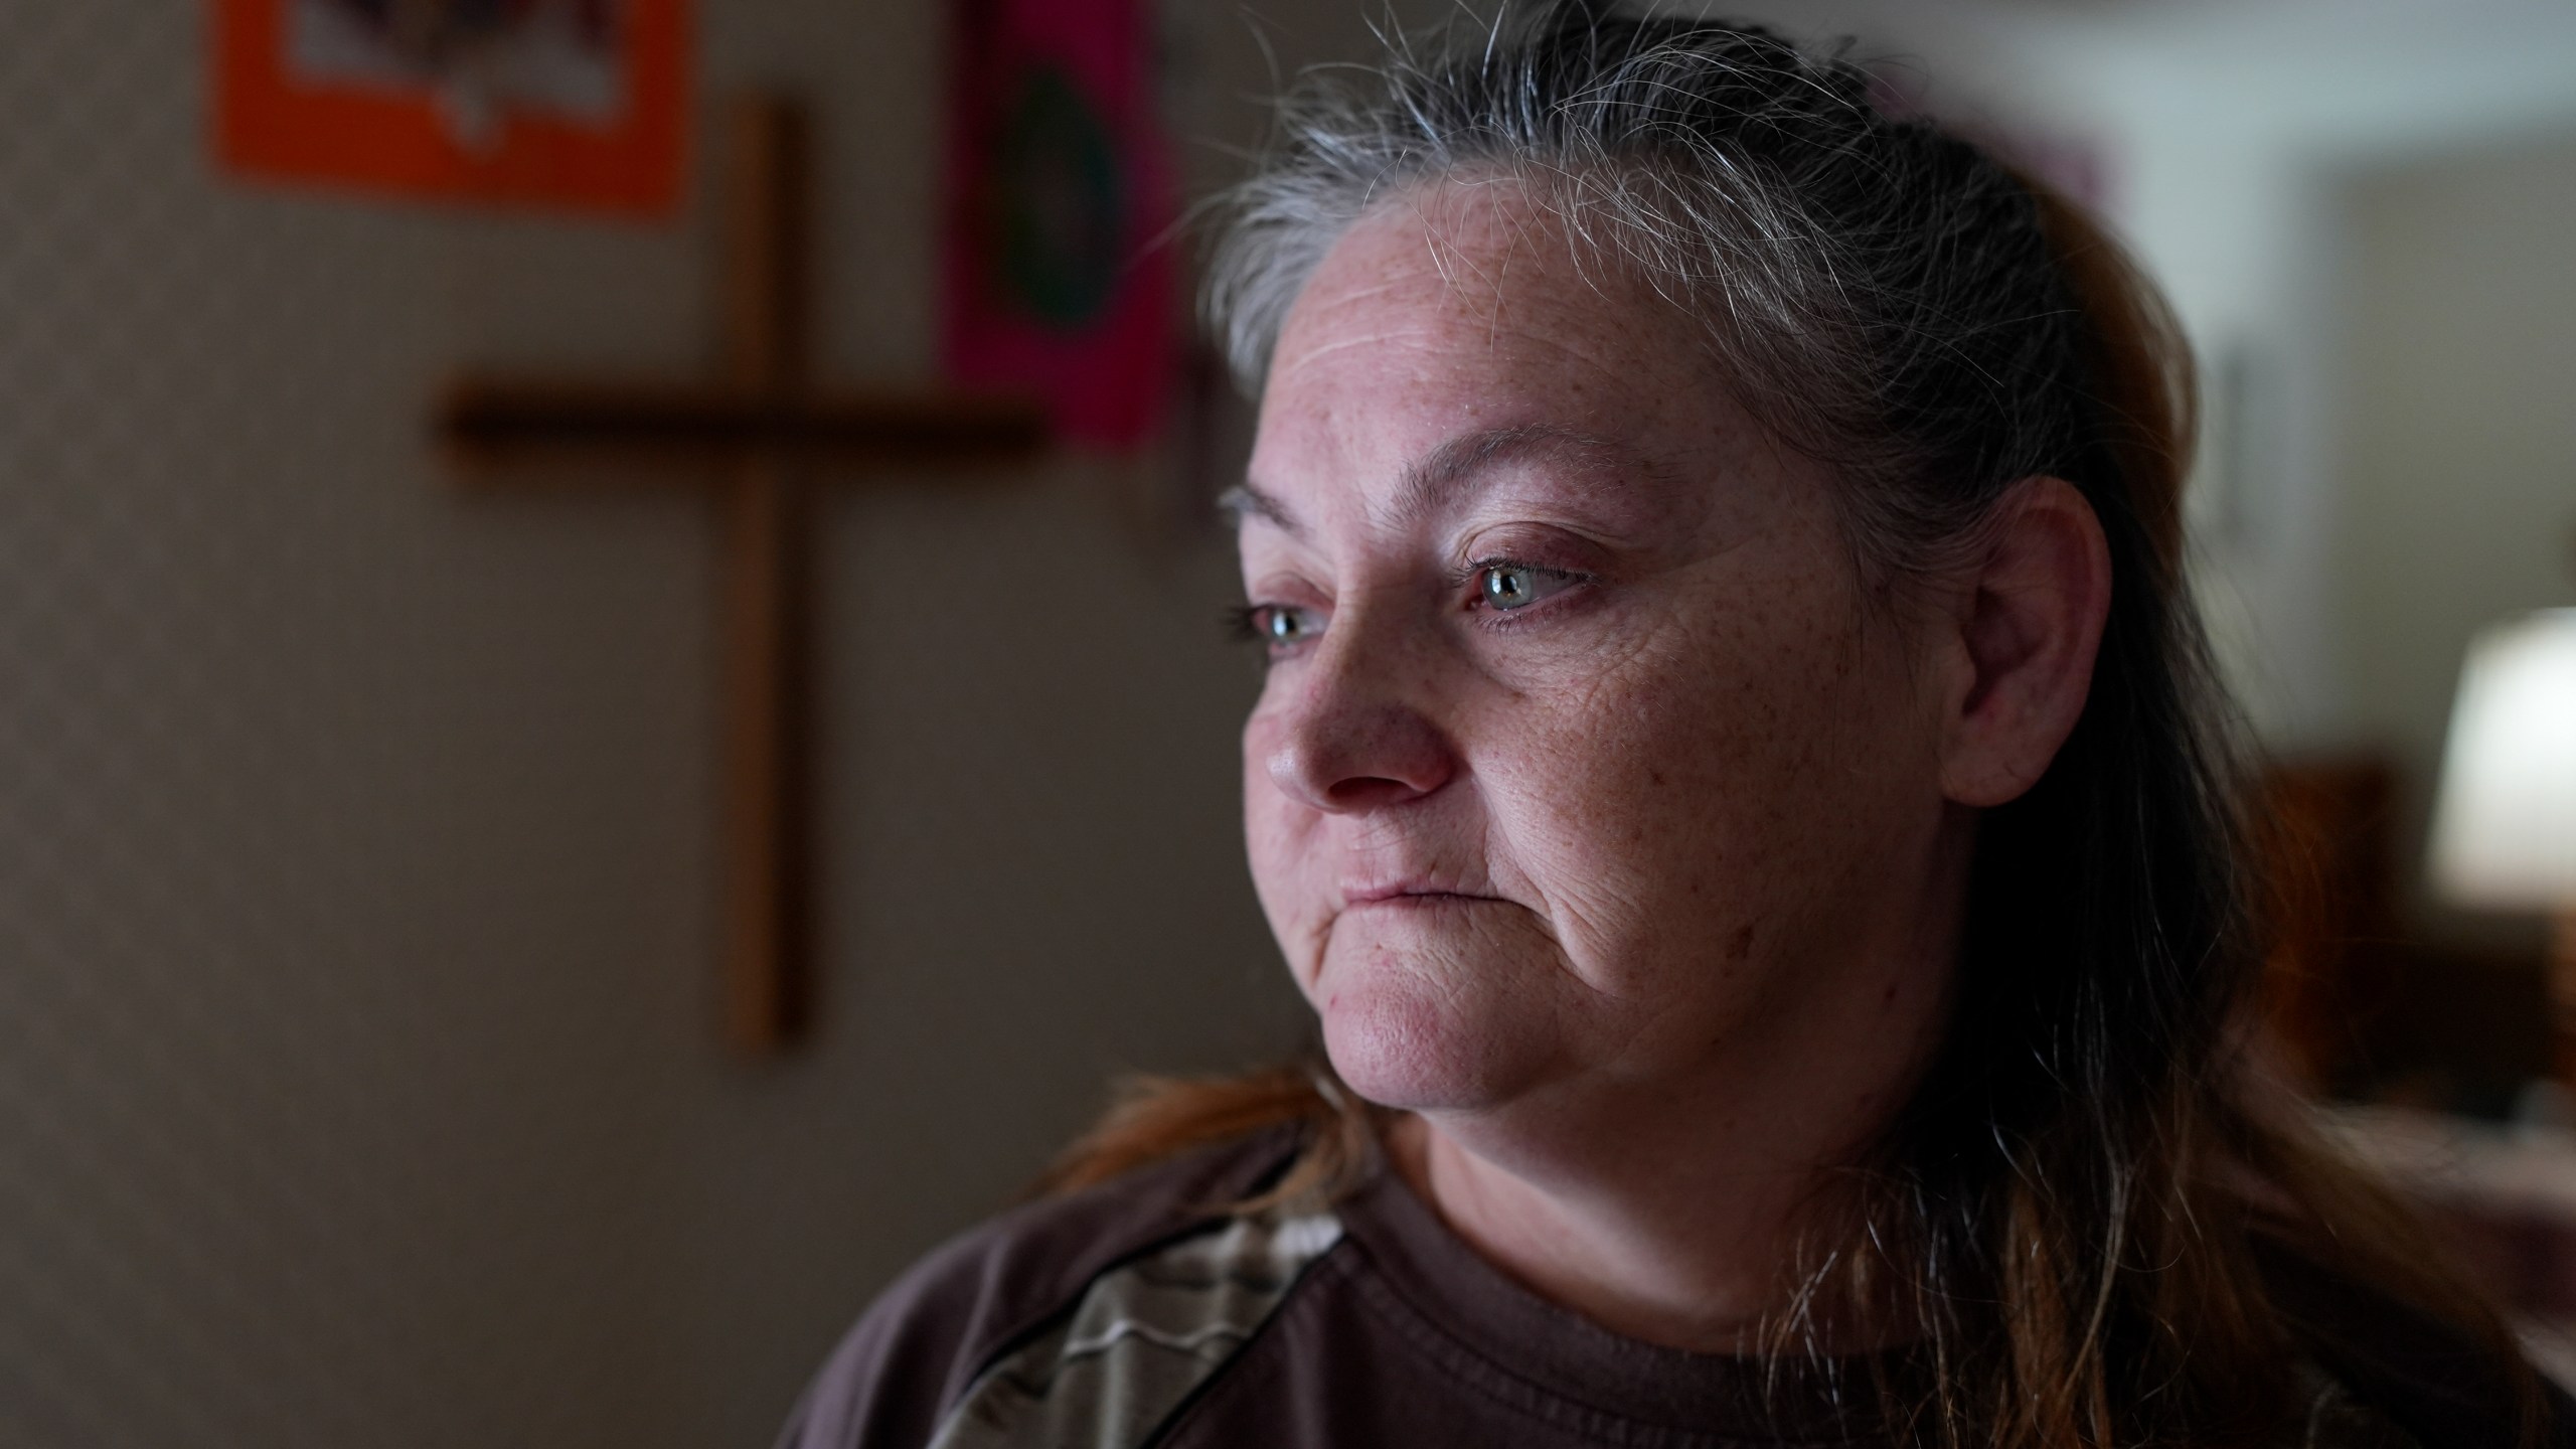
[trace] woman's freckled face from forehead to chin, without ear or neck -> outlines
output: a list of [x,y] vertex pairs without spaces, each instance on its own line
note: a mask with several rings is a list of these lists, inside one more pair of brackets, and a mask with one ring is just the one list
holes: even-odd
[[1651,1093],[1929,1013],[1888,959],[1927,931],[1940,712],[1832,487],[1510,191],[1332,250],[1236,495],[1244,828],[1352,1088]]

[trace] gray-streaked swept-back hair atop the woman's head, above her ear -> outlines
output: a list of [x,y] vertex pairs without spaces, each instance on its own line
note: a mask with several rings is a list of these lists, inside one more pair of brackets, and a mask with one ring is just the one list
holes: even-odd
[[2020,477],[2084,469],[2081,317],[2027,183],[1883,113],[1844,52],[1592,5],[1396,36],[1381,67],[1311,72],[1280,103],[1270,155],[1218,201],[1206,315],[1236,382],[1260,389],[1363,214],[1494,180],[1579,266],[1698,317],[1736,402],[1855,485],[1852,544],[1886,567],[1929,562]]

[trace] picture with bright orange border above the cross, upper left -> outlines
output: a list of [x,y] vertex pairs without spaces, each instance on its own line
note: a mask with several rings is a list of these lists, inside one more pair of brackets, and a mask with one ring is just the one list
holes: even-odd
[[214,0],[216,155],[263,180],[670,214],[685,0]]

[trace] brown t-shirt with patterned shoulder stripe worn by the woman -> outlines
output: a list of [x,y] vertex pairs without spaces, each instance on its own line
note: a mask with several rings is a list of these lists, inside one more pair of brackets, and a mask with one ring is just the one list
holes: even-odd
[[[1391,1171],[1327,1212],[1231,1217],[1283,1132],[1005,1214],[912,1269],[781,1449],[1744,1449],[1888,1444],[1901,1359],[1685,1354],[1538,1299]],[[2313,1374],[2308,1444],[2406,1446]]]

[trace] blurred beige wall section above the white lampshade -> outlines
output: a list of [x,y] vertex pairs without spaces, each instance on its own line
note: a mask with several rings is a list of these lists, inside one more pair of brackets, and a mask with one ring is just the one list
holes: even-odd
[[2419,817],[2470,634],[2576,603],[2576,134],[2375,168],[2339,201],[2334,616],[2349,735],[2398,750]]

